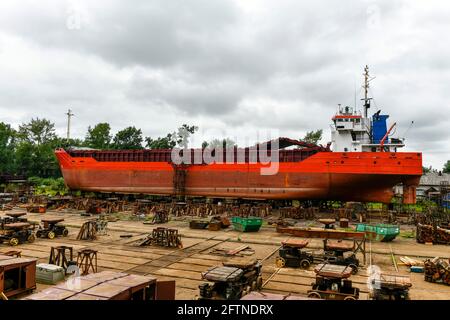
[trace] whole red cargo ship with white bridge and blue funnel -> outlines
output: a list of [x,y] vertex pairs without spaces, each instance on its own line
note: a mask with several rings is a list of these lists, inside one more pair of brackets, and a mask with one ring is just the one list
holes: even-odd
[[[73,190],[163,196],[239,199],[338,200],[389,203],[403,185],[403,203],[416,202],[422,175],[420,152],[398,152],[404,140],[390,137],[388,115],[368,116],[369,73],[365,68],[363,112],[339,106],[327,146],[278,138],[249,148],[228,148],[221,161],[205,161],[205,149],[55,151],[67,186]],[[277,146],[274,150],[273,146]],[[261,150],[276,157],[277,170]],[[200,158],[199,158],[200,155]],[[187,160],[186,160],[187,159]]]

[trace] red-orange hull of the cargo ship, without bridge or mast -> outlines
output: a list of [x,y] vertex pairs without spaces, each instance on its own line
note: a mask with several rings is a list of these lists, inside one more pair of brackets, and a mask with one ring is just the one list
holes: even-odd
[[[97,161],[57,150],[67,186],[74,190],[176,195],[169,162]],[[274,175],[260,163],[191,165],[183,194],[217,198],[323,199],[389,203],[404,186],[403,202],[416,202],[421,153],[318,152],[299,162],[279,162]]]

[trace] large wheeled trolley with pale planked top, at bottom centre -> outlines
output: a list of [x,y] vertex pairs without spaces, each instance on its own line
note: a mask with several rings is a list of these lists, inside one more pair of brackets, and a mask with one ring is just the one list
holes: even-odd
[[234,258],[223,266],[202,272],[209,282],[199,285],[199,299],[236,300],[262,287],[261,263],[256,259]]

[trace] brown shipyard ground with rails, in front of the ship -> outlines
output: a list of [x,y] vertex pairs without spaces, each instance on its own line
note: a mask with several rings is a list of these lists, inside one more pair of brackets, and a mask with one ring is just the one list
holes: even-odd
[[[0,216],[5,213],[0,211]],[[143,224],[142,221],[109,222],[107,235],[98,236],[98,239],[94,241],[78,241],[76,236],[81,225],[92,217],[82,217],[80,211],[76,210],[48,211],[44,215],[29,213],[27,217],[30,221],[39,222],[43,216],[63,217],[70,232],[69,236],[53,240],[37,239],[32,244],[21,244],[15,249],[22,251],[24,257],[34,257],[39,259],[38,263],[48,263],[52,246],[71,246],[75,252],[83,248],[95,249],[98,250],[98,271],[125,271],[132,274],[152,275],[160,280],[176,280],[176,299],[195,299],[198,294],[198,285],[203,282],[201,272],[209,267],[220,265],[227,259],[212,254],[211,251],[214,248],[233,249],[243,244],[255,250],[252,257],[263,260],[263,292],[306,295],[307,290],[311,288],[311,282],[314,281],[312,268],[310,270],[279,269],[275,266],[280,243],[290,236],[279,234],[274,227],[266,224],[259,232],[241,233],[232,230],[231,227],[221,231],[193,230],[189,229],[188,222],[185,220],[171,220],[167,224],[157,226],[177,228],[182,235],[183,248],[168,249],[152,246],[138,247],[133,244],[156,227]],[[121,235],[132,237],[121,238]],[[310,249],[319,250],[321,247],[321,239],[311,239]],[[0,245],[0,253],[8,250],[11,250],[11,247],[7,244]],[[371,262],[379,266],[382,272],[411,277],[411,299],[450,300],[450,286],[425,282],[423,274],[410,273],[409,268],[401,264],[398,265],[397,272],[391,256],[393,253],[397,263],[401,263],[399,257],[402,256],[418,259],[440,256],[448,259],[450,246],[418,244],[415,239],[398,236],[391,243],[368,242],[367,251],[366,266]],[[362,262],[361,254],[358,254],[358,258]],[[360,299],[362,300],[368,299],[366,266],[363,266],[357,275],[351,277],[354,285],[361,290]],[[38,284],[37,290],[45,287]]]

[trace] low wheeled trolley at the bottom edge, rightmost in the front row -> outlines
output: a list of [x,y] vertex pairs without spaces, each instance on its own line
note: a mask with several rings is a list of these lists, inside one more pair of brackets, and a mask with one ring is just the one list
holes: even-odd
[[409,288],[412,286],[408,276],[380,274],[372,279],[369,297],[374,300],[408,300]]

